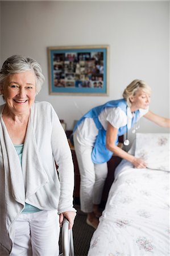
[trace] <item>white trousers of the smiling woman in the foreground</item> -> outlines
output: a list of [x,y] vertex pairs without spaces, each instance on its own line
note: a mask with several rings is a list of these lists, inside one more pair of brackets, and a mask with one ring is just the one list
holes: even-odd
[[14,225],[14,246],[10,256],[59,255],[60,226],[57,210],[21,213]]

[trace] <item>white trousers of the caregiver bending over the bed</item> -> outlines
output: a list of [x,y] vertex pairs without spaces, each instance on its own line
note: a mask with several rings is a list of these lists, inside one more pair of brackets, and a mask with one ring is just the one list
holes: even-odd
[[103,186],[107,177],[107,163],[92,162],[92,146],[80,144],[74,134],[78,168],[80,171],[80,204],[81,210],[93,212],[93,204],[100,204]]

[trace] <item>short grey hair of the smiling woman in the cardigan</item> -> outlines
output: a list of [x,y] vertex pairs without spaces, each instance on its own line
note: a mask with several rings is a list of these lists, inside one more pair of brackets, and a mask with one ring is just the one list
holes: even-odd
[[13,73],[22,73],[26,71],[33,71],[36,77],[36,94],[42,89],[44,76],[40,64],[30,57],[23,57],[20,55],[13,55],[6,59],[0,70],[0,84],[3,85],[6,77]]

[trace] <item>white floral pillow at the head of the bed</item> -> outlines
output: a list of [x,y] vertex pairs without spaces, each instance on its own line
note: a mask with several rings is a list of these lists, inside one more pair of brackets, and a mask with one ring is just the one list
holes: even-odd
[[142,158],[147,168],[169,171],[169,134],[137,133],[135,157]]

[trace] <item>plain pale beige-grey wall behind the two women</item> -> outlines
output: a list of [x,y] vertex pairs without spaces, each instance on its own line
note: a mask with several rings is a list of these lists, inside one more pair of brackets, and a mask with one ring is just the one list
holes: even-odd
[[[169,2],[2,1],[0,11],[1,64],[13,54],[38,60],[46,81],[37,100],[51,102],[68,129],[93,106],[121,98],[134,79],[150,84],[150,109],[168,117]],[[109,96],[49,95],[47,47],[92,44],[110,46]],[[168,129],[143,118],[140,131]]]

